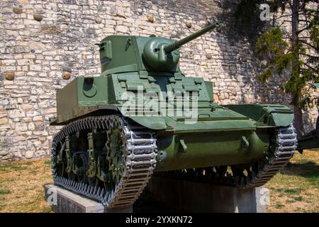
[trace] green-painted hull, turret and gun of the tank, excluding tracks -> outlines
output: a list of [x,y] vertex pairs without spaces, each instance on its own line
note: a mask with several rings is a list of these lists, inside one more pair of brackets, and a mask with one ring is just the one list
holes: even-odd
[[[269,129],[289,126],[293,112],[270,104],[218,106],[213,101],[212,82],[184,76],[178,66],[178,48],[213,28],[216,24],[179,41],[155,36],[104,38],[99,44],[101,76],[78,77],[58,91],[57,120],[52,124],[63,125],[86,114],[117,113],[130,118],[157,133],[156,171],[254,162],[269,150]],[[140,115],[123,110],[126,92],[135,95]],[[160,114],[168,107],[162,108],[158,99],[153,115],[143,116],[147,101],[140,95],[159,97],[162,92],[196,92],[197,112],[192,117],[197,121],[190,123],[186,106],[180,116]],[[90,162],[96,162],[93,153],[90,157]]]

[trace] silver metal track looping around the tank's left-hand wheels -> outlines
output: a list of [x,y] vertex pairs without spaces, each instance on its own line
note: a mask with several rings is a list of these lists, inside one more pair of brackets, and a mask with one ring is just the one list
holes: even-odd
[[132,123],[129,124],[122,118],[128,156],[125,157],[123,175],[111,192],[106,192],[101,187],[92,187],[89,184],[58,176],[55,156],[57,155],[57,144],[64,140],[67,135],[81,130],[94,131],[98,128],[107,130],[110,128],[111,118],[116,117],[119,116],[88,116],[81,118],[63,127],[52,140],[51,157],[54,183],[69,191],[99,201],[108,209],[133,204],[142,193],[156,166],[157,145],[154,133],[148,131],[147,128],[135,126]]

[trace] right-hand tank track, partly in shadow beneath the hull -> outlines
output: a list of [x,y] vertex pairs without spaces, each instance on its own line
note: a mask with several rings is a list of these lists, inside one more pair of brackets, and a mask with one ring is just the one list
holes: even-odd
[[216,167],[216,172],[213,171],[213,167],[205,167],[186,171],[159,172],[155,175],[196,182],[225,184],[240,189],[260,187],[272,179],[289,162],[297,148],[297,133],[292,124],[286,128],[276,128],[276,133],[271,140],[271,144],[274,146],[269,149],[266,157],[245,169],[247,175],[243,175],[242,172],[239,174],[235,171],[232,173],[226,172],[232,166],[224,166],[223,171],[220,171],[220,167]]

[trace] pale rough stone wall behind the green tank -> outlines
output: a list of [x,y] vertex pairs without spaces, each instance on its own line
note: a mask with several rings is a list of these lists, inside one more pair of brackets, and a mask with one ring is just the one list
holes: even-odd
[[[221,12],[220,0],[1,0],[0,160],[50,154],[59,130],[48,123],[56,113],[55,93],[74,77],[99,75],[94,43],[113,34],[181,38],[214,18],[227,21]],[[181,52],[181,70],[214,82],[220,104],[289,104],[280,80],[269,86],[257,81],[246,39],[213,31]],[[306,118],[314,122],[316,114]]]

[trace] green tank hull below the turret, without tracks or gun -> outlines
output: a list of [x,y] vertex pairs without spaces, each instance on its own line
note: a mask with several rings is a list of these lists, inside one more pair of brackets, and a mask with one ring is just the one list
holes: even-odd
[[[179,76],[158,74],[138,80],[140,74],[134,72],[79,77],[57,92],[57,119],[52,125],[63,125],[86,116],[119,114],[156,134],[159,153],[155,171],[162,172],[251,164],[267,154],[272,129],[289,126],[293,121],[293,112],[283,105],[218,106],[212,99],[213,90],[209,89],[213,84],[201,78]],[[176,78],[180,90],[184,88],[182,92],[185,88],[198,92],[197,106],[191,110],[192,115],[186,116],[183,111],[179,116],[177,112],[172,114],[169,105],[162,108],[159,100],[155,103],[157,112],[147,115],[145,101],[139,104],[137,100],[142,99],[151,88],[153,91],[157,88],[161,92],[176,92]],[[141,91],[138,87],[142,87]],[[125,108],[125,92],[133,94],[134,111]],[[77,94],[76,98],[72,94]],[[173,104],[173,107],[176,109],[177,105]]]

